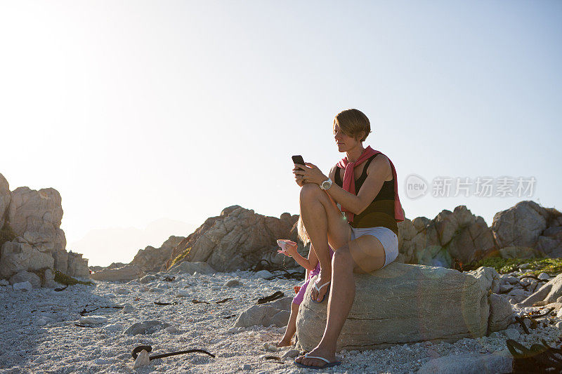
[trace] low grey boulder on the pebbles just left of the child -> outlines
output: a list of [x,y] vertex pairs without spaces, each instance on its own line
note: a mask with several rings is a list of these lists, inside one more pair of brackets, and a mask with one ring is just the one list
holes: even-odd
[[287,326],[293,298],[282,298],[266,304],[253,305],[236,319],[234,327]]

